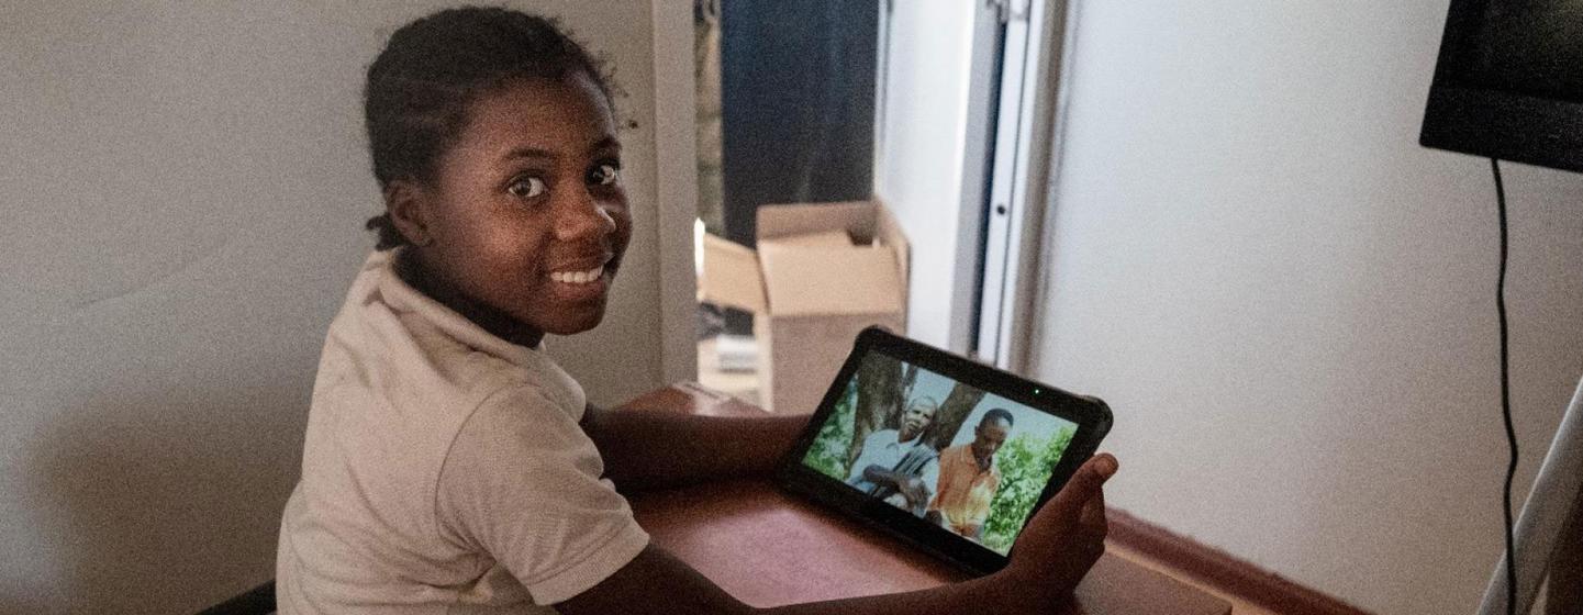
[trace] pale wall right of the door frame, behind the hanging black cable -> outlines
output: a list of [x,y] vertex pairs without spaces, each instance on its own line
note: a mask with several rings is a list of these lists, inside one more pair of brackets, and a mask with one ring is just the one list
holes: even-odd
[[[1037,378],[1110,503],[1379,613],[1502,549],[1488,161],[1417,145],[1447,2],[1078,2]],[[1583,175],[1504,164],[1518,501],[1583,375]]]

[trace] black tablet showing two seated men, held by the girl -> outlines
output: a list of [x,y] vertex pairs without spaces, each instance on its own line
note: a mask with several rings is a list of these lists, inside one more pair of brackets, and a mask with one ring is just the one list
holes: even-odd
[[779,484],[970,572],[1005,566],[1110,432],[1103,402],[866,329]]

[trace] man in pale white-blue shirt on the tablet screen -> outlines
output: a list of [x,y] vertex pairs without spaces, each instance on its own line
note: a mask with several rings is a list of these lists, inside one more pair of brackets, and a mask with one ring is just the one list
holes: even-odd
[[923,443],[923,432],[934,422],[940,403],[918,397],[907,405],[901,428],[885,428],[863,440],[863,451],[852,463],[847,484],[896,507],[923,515],[923,506],[934,492],[921,476],[934,474],[934,447]]

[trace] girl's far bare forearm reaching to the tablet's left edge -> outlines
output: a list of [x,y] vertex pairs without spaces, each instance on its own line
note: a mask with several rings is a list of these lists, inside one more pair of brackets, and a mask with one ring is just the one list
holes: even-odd
[[583,432],[605,458],[605,476],[632,493],[768,476],[806,422],[806,416],[698,416],[589,406]]

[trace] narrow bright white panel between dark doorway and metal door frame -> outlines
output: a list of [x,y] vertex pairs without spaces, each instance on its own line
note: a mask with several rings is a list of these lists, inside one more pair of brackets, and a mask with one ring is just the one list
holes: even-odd
[[966,351],[975,334],[967,316],[977,285],[993,79],[993,46],[983,36],[993,35],[994,17],[974,2],[890,6],[886,49],[880,51],[875,194],[912,245],[907,335]]

